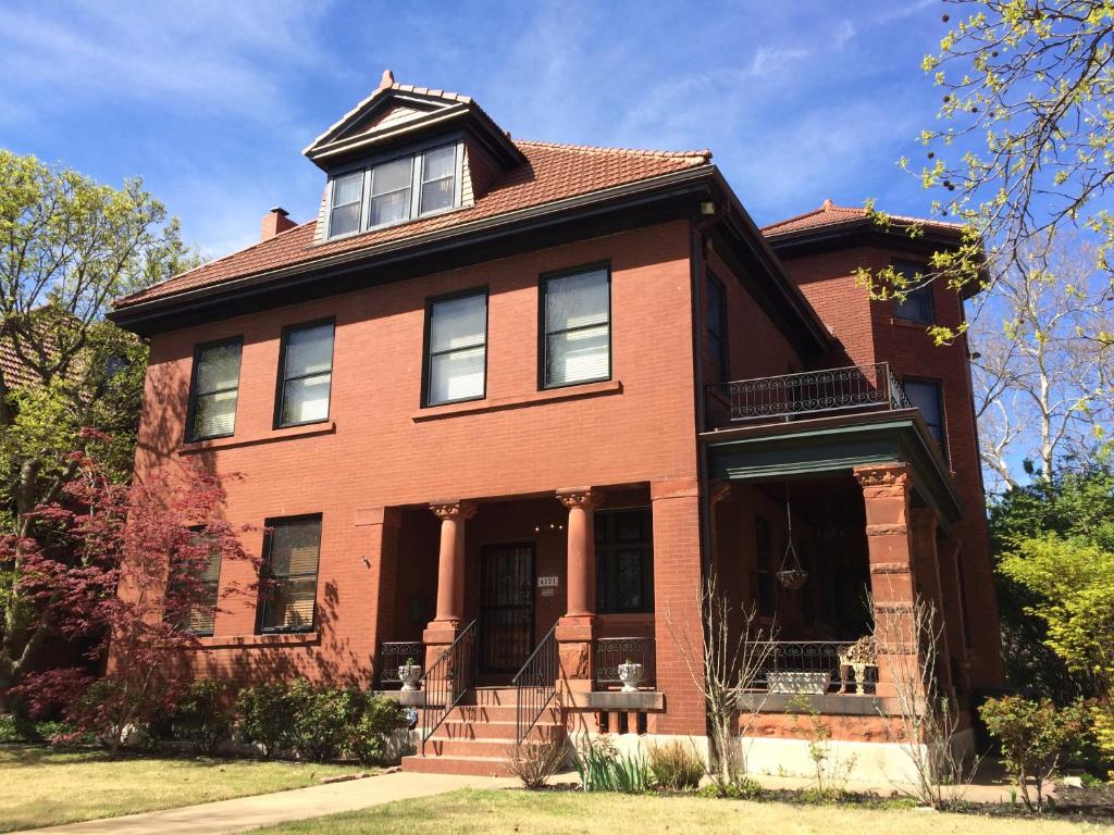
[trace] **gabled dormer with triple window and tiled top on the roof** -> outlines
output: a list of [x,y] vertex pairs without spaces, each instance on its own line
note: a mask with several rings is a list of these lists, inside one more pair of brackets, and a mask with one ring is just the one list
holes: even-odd
[[303,153],[329,175],[319,243],[467,208],[526,163],[471,98],[395,84],[390,70]]

